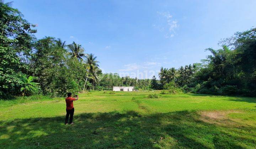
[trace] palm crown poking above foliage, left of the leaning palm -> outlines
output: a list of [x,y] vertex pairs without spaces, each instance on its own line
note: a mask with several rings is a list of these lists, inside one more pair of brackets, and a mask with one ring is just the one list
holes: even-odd
[[75,42],[67,46],[68,46],[68,49],[70,50],[69,55],[71,55],[71,57],[75,57],[78,60],[82,61],[82,57],[85,56],[84,48],[82,48],[80,44],[76,44]]

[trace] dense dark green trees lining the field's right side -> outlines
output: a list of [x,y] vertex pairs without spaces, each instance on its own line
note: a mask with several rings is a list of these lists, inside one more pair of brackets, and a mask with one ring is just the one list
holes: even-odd
[[220,44],[222,49],[206,49],[212,55],[201,63],[161,68],[155,89],[174,81],[187,92],[256,96],[256,28],[237,32]]

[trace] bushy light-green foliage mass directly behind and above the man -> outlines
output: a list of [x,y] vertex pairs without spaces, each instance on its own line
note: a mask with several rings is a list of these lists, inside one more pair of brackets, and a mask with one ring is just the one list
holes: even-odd
[[30,71],[33,76],[38,77],[43,94],[49,96],[77,93],[85,72],[84,64],[72,57],[66,57],[66,50],[58,45],[52,37],[38,40],[30,64]]

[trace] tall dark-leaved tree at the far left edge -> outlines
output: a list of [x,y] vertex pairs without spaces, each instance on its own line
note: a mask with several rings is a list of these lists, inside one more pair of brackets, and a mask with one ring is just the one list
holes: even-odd
[[20,76],[28,70],[34,27],[11,2],[0,0],[0,96],[19,93]]

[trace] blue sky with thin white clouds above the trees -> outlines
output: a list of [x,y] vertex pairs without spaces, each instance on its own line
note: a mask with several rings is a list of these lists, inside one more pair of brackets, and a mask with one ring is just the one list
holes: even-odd
[[[6,1],[8,2],[8,1]],[[76,42],[103,72],[151,78],[193,64],[220,39],[256,24],[255,0],[14,0],[36,37]]]

